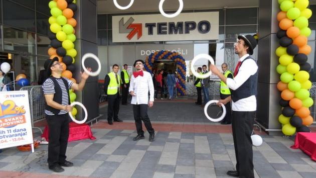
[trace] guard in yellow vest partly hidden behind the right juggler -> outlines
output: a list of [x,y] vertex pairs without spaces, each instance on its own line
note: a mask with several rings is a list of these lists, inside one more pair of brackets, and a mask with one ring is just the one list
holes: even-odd
[[[222,70],[224,71],[223,74],[226,78],[233,78],[232,72],[228,70],[227,63],[222,64]],[[221,100],[224,100],[225,98],[229,96],[230,96],[229,87],[223,81],[221,81],[221,85],[220,85]],[[226,115],[225,115],[225,118],[221,122],[221,124],[223,125],[231,124],[231,117],[232,117],[232,107],[230,105],[230,102],[225,104],[225,108],[226,108]]]

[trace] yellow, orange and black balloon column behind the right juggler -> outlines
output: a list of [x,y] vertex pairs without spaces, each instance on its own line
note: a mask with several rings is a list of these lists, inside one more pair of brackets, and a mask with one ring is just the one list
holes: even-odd
[[311,82],[309,79],[310,64],[307,55],[311,48],[307,45],[307,37],[311,31],[308,19],[311,10],[307,9],[308,0],[278,0],[281,11],[277,14],[280,30],[276,36],[280,46],[275,53],[279,57],[276,71],[280,74],[277,88],[281,92],[279,104],[282,114],[278,120],[282,124],[284,135],[295,132],[309,132],[312,124],[309,107],[313,100],[309,97]]

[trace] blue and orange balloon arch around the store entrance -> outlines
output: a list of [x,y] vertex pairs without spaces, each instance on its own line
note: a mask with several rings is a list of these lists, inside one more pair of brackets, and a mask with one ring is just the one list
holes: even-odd
[[152,73],[152,66],[155,61],[159,61],[161,59],[171,59],[175,62],[177,62],[177,78],[179,79],[179,87],[178,95],[185,95],[186,93],[186,61],[181,56],[181,54],[178,54],[177,52],[171,52],[171,51],[156,51],[154,53],[151,53],[149,56],[146,57],[145,60],[145,69],[146,71]]

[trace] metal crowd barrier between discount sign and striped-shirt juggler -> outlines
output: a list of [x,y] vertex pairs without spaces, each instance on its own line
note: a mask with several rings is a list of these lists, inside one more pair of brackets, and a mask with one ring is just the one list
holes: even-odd
[[34,123],[45,119],[45,98],[42,90],[42,85],[23,86],[20,91],[28,91],[29,103],[31,110],[32,129],[42,129],[34,127]]

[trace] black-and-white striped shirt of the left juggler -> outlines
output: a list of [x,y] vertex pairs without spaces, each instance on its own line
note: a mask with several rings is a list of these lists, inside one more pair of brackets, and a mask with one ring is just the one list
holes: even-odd
[[[64,106],[67,106],[69,104],[69,101],[68,101],[68,92],[67,92],[67,89],[66,89],[66,86],[63,82],[63,80],[61,78],[56,78],[57,79],[57,82],[61,88],[61,91],[62,91],[62,103],[61,105],[64,105]],[[65,78],[66,81],[68,82],[68,86],[69,88],[71,87],[73,81],[71,81],[70,79],[68,78]],[[43,92],[44,92],[44,95],[45,94],[55,94],[55,86],[54,86],[54,82],[51,78],[47,78],[45,80],[45,82],[43,83],[42,85],[42,88],[43,88]],[[62,115],[62,114],[66,114],[68,113],[68,111],[66,110],[60,110],[60,112],[58,113],[58,115]],[[54,113],[52,113],[51,111],[48,111],[48,110],[45,110],[45,114],[47,115],[50,115],[50,116],[53,116]]]

